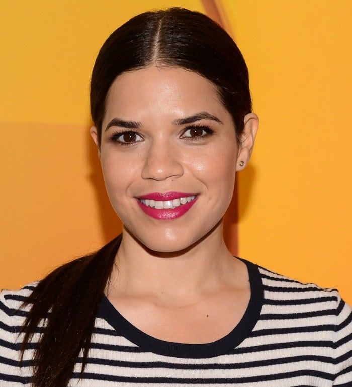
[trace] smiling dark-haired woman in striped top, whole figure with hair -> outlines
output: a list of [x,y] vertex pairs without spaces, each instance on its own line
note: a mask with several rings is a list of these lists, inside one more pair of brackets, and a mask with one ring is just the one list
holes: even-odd
[[131,19],[100,50],[91,112],[123,234],[2,293],[1,385],[351,385],[338,293],[224,244],[258,126],[232,39],[184,9]]

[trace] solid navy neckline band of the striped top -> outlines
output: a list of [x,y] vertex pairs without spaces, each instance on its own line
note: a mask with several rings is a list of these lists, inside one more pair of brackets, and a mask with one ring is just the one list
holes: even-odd
[[156,339],[142,332],[102,297],[98,316],[104,318],[121,336],[146,352],[181,358],[209,358],[231,353],[253,330],[263,304],[263,285],[259,269],[253,263],[241,259],[247,266],[250,282],[250,300],[239,323],[226,336],[212,343],[184,344]]

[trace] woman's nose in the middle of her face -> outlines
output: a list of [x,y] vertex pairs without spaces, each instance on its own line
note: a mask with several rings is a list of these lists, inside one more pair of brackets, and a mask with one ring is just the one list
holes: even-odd
[[146,150],[141,176],[143,179],[165,180],[169,177],[180,177],[184,168],[177,146],[155,140]]

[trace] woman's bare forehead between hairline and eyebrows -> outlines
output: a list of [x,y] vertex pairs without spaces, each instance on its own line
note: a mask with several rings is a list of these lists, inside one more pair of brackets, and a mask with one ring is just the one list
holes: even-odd
[[108,116],[204,110],[218,114],[224,110],[216,86],[196,72],[180,67],[150,66],[125,72],[113,82],[106,102]]

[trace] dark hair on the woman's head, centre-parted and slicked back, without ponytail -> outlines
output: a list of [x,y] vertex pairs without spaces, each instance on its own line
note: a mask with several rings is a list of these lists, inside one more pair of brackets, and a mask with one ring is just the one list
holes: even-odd
[[117,76],[150,65],[197,72],[217,88],[232,116],[237,138],[251,111],[248,70],[232,38],[207,16],[183,8],[137,15],[102,46],[91,80],[91,113],[101,138],[105,100]]

